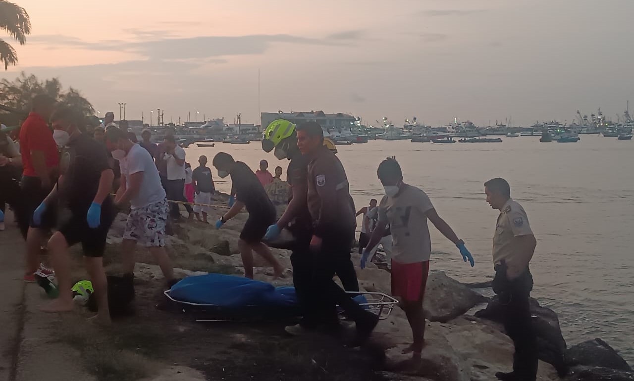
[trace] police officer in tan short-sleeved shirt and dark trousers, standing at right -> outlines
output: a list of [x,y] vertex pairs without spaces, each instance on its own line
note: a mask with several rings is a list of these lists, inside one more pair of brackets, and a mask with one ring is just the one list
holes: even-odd
[[496,377],[503,381],[534,381],[538,353],[529,308],[533,276],[528,265],[537,241],[526,211],[510,197],[506,180],[489,180],[484,183],[484,192],[491,208],[500,210],[493,237],[493,291],[503,308],[504,328],[515,345],[513,372],[499,372]]

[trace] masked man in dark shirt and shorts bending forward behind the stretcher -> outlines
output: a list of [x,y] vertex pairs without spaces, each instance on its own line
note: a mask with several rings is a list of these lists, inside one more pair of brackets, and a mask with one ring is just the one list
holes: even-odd
[[224,178],[231,175],[231,193],[235,194],[233,206],[217,220],[216,228],[222,227],[242,208],[247,208],[247,212],[249,212],[249,219],[244,224],[238,240],[245,277],[253,279],[253,251],[273,266],[276,278],[281,277],[283,267],[273,257],[268,246],[261,242],[266,228],[274,223],[276,218],[275,206],[266,196],[264,187],[249,166],[242,161],[235,161],[228,153],[217,153],[214,156],[213,165],[218,170],[219,177]]

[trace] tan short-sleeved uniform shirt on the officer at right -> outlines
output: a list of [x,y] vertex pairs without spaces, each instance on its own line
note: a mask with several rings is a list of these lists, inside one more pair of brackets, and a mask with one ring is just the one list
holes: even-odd
[[512,262],[516,253],[513,239],[522,235],[533,235],[528,216],[520,204],[508,199],[498,216],[493,236],[493,263],[497,265],[502,259]]

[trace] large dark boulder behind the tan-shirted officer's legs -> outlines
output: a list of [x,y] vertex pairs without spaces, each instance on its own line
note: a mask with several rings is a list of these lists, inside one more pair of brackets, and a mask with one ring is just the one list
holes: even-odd
[[[502,322],[502,306],[498,297],[493,297],[486,309],[477,311],[475,316],[479,318]],[[566,375],[566,340],[559,327],[559,318],[550,308],[540,306],[540,303],[531,298],[531,316],[533,316],[533,329],[537,335],[537,347],[539,358],[552,364],[561,377]]]

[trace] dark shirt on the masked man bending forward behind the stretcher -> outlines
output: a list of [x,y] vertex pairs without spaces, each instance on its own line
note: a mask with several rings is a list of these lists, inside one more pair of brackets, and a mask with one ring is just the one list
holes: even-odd
[[248,165],[242,161],[236,161],[231,170],[231,182],[236,201],[244,203],[250,215],[268,216],[273,211],[275,216],[275,206]]

